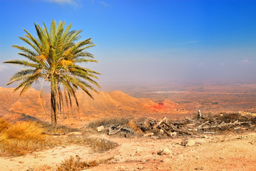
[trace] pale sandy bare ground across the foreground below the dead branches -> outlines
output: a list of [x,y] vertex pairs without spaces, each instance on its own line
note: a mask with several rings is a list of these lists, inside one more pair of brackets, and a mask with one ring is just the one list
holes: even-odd
[[[112,160],[88,170],[256,170],[256,133],[207,135],[206,138],[119,138],[93,135],[119,144],[108,152],[96,153],[90,147],[71,145],[33,152],[21,157],[0,157],[0,170],[32,170],[55,166],[71,155],[81,161]],[[195,145],[180,142],[194,140]],[[164,152],[160,152],[164,150]],[[49,169],[50,170],[50,169]]]

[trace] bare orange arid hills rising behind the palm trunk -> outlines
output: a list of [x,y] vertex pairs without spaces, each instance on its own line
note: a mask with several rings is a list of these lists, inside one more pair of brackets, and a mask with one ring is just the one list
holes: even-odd
[[[43,103],[46,106],[46,114],[41,106],[39,91],[30,88],[19,97],[19,92],[14,93],[14,88],[0,88],[0,111],[6,118],[15,120],[21,115],[31,115],[40,120],[49,120],[51,113],[50,95],[44,93]],[[108,116],[136,116],[160,115],[177,111],[182,106],[170,100],[163,103],[154,103],[146,98],[133,98],[119,90],[111,92],[93,93],[91,99],[86,93],[78,90],[79,111],[73,100],[72,108],[64,107],[61,115],[58,115],[60,123],[78,123],[83,120],[93,120]],[[184,113],[184,111],[183,111]]]

